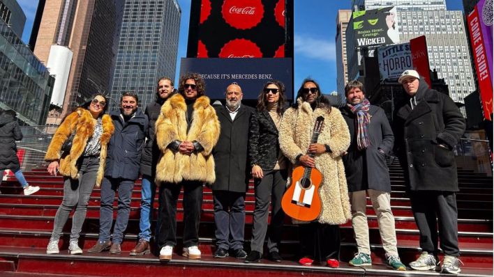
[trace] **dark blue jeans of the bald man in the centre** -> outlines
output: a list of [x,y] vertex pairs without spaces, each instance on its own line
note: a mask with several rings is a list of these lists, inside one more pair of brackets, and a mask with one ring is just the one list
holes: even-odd
[[216,246],[225,250],[244,248],[246,193],[214,191],[213,195]]

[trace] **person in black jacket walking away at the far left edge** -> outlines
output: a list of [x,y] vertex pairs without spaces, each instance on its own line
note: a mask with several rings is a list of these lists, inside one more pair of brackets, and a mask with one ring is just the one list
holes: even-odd
[[39,191],[40,187],[29,186],[20,169],[15,141],[22,140],[22,132],[15,116],[15,111],[12,110],[3,111],[0,114],[0,184],[3,171],[10,169],[24,189],[24,195],[29,196]]

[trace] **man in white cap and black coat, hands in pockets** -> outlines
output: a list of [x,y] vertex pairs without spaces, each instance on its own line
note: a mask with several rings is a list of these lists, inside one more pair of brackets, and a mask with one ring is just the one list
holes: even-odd
[[444,251],[441,271],[458,274],[461,271],[456,208],[458,177],[452,149],[465,132],[465,119],[453,100],[428,88],[417,71],[405,70],[398,82],[408,97],[395,110],[396,154],[405,168],[423,251],[417,260],[410,262],[410,267],[436,268],[438,227],[440,248]]

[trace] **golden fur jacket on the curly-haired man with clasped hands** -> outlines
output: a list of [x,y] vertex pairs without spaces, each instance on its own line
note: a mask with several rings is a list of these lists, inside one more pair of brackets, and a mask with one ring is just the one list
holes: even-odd
[[[216,179],[214,158],[211,154],[220,135],[220,122],[209,98],[201,96],[193,105],[192,122],[187,132],[187,105],[182,95],[170,97],[161,107],[156,120],[156,143],[162,156],[156,166],[156,182],[178,183],[197,180],[212,184]],[[182,155],[167,146],[172,141],[197,141],[204,150]]]

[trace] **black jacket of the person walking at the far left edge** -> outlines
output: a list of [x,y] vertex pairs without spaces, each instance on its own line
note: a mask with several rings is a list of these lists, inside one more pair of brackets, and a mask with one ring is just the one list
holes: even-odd
[[19,123],[14,116],[3,113],[0,116],[0,171],[10,169],[17,172],[20,169],[15,145],[15,141],[20,140],[22,140],[22,132]]

